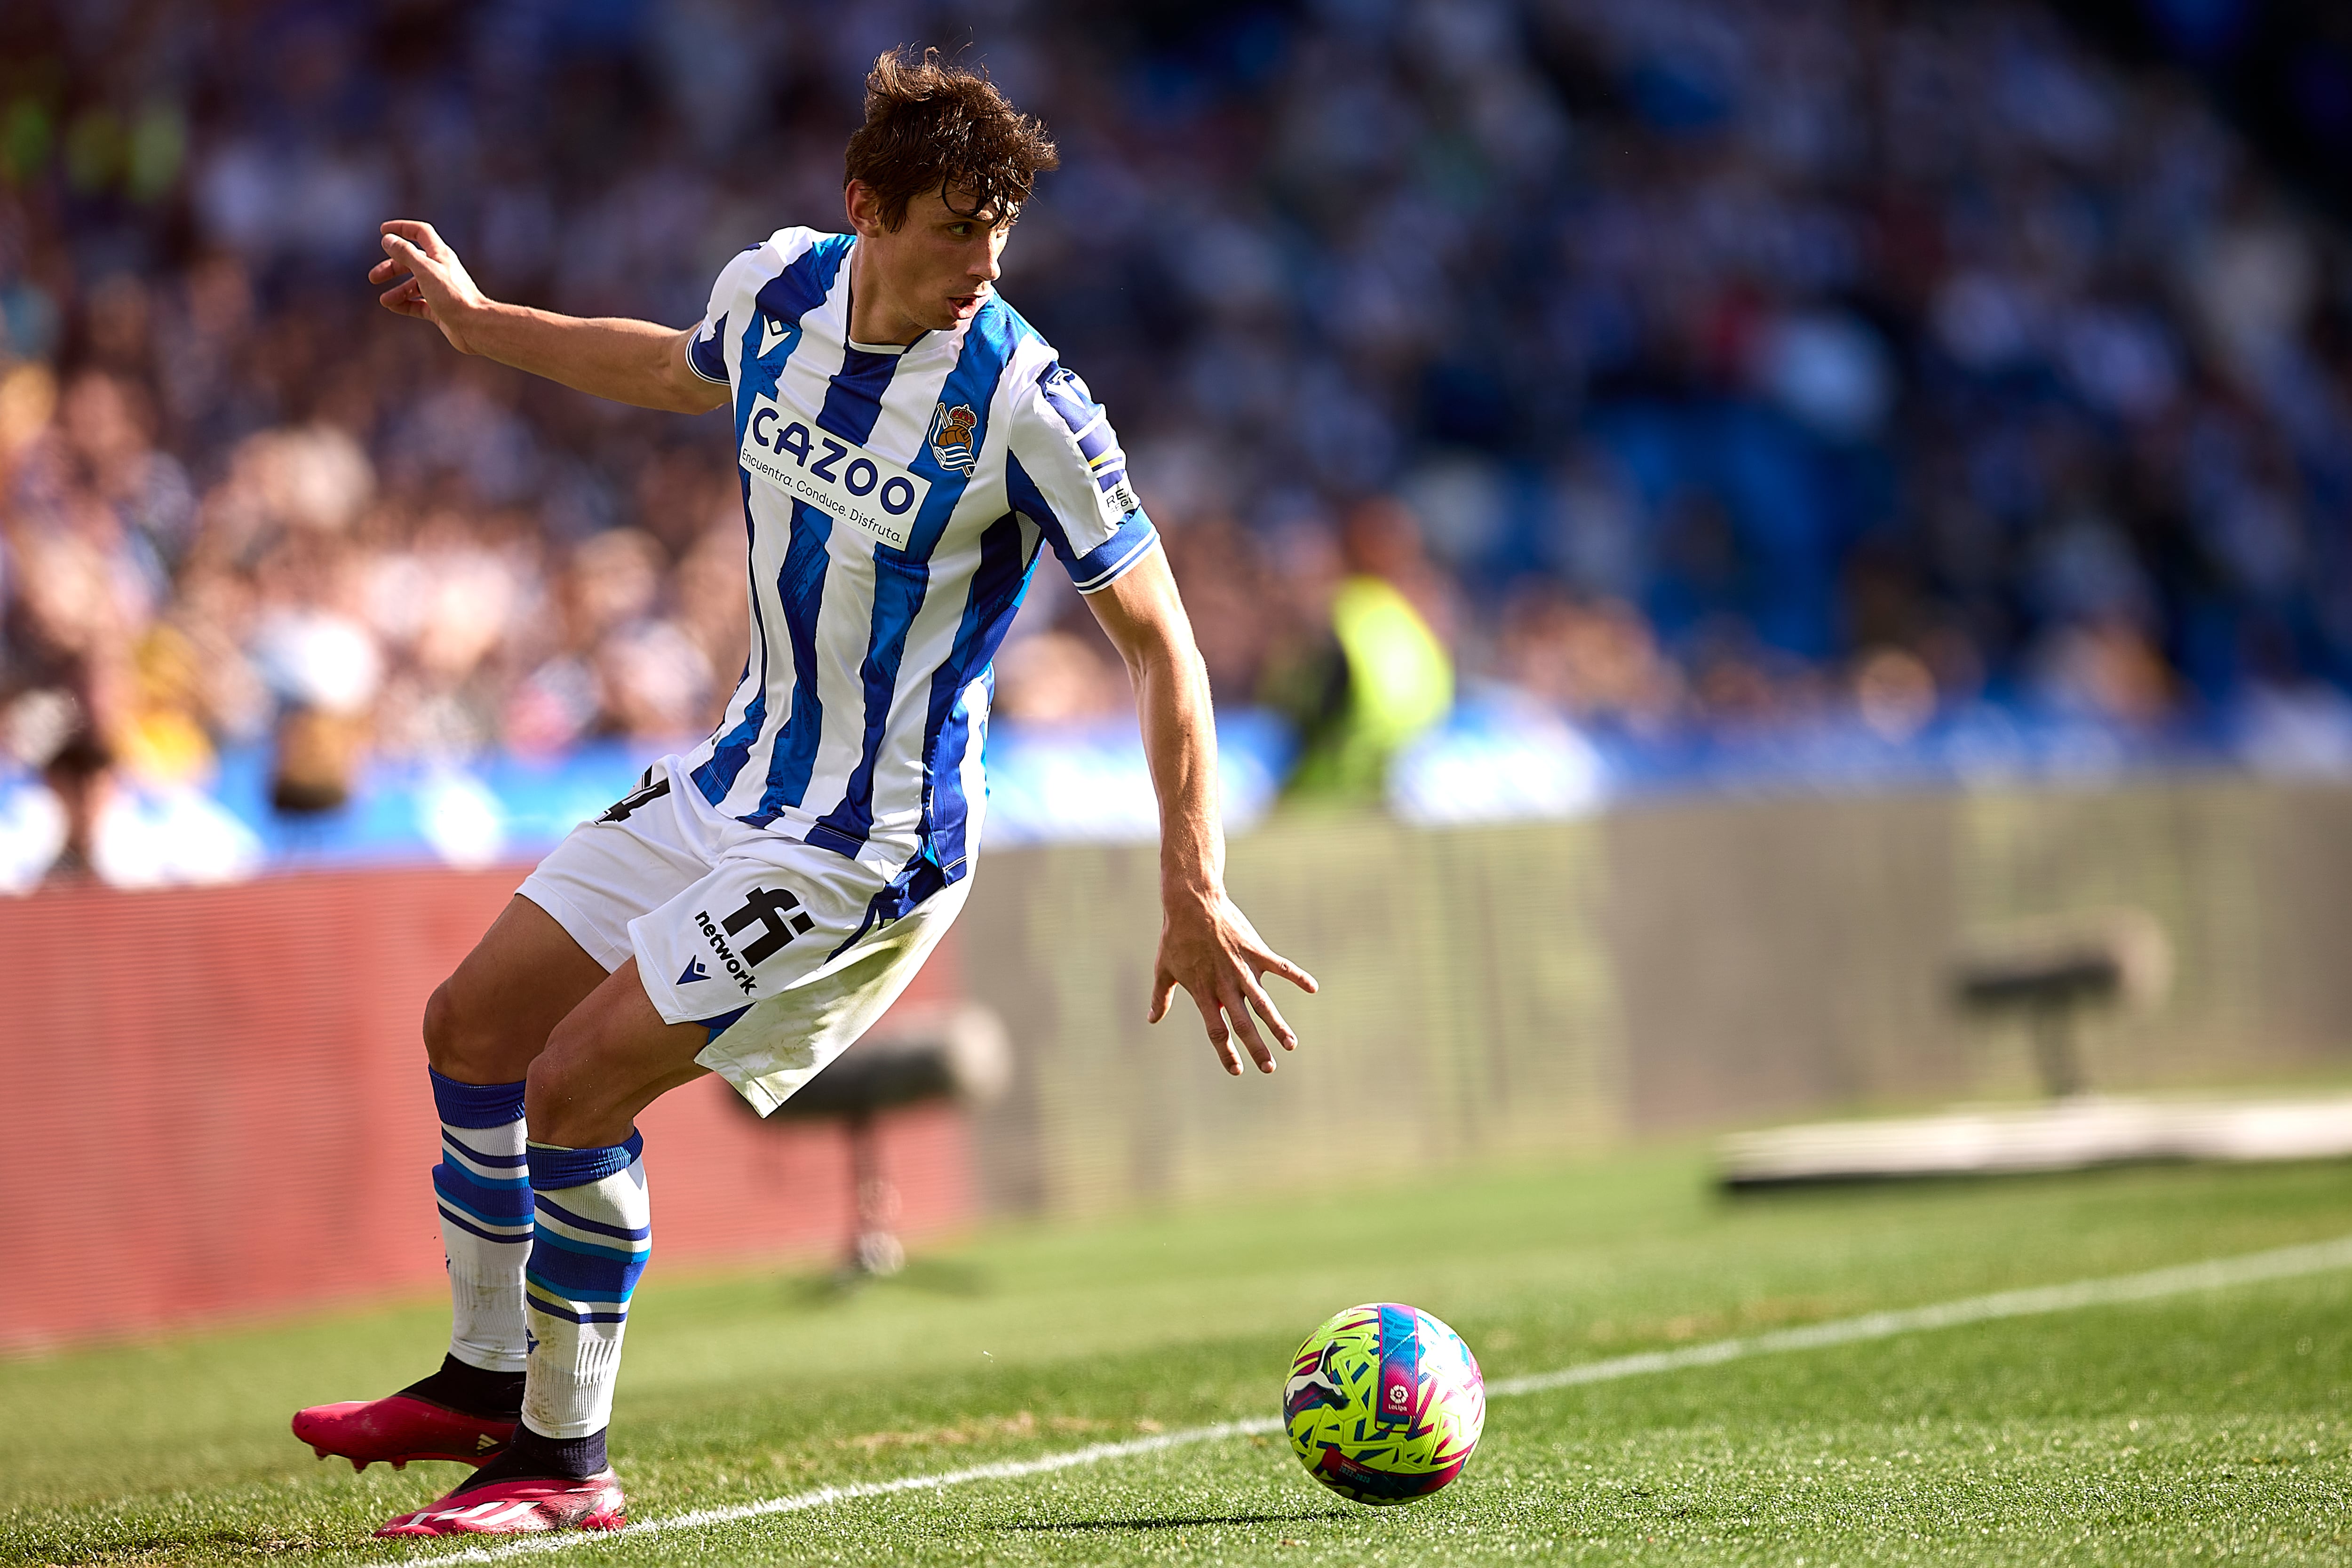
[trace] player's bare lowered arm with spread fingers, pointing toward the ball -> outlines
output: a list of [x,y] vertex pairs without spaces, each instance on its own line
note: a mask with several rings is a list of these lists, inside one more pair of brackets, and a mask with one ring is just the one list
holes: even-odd
[[[1265,994],[1275,973],[1303,992],[1315,976],[1265,945],[1249,917],[1225,896],[1225,830],[1216,811],[1216,724],[1209,715],[1209,672],[1192,644],[1192,623],[1176,595],[1167,555],[1152,550],[1108,588],[1087,595],[1096,621],[1127,661],[1143,719],[1143,752],[1160,792],[1160,964],[1152,973],[1152,1023],[1167,1018],[1176,987],[1185,987],[1209,1027],[1209,1044],[1240,1074],[1232,1048],[1240,1034],[1258,1072],[1275,1070],[1275,1053],[1258,1020],[1282,1041],[1298,1034]],[[1256,1013],[1256,1018],[1251,1016]]]

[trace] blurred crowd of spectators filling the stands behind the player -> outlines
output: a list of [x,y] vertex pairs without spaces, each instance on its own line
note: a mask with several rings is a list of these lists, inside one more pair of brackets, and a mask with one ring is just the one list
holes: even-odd
[[[687,324],[746,242],[837,221],[903,40],[976,40],[1058,139],[1004,294],[1110,407],[1221,703],[1287,710],[1308,778],[1381,665],[1350,578],[1595,733],[2345,712],[2340,237],[2039,7],[21,0],[16,764],[73,816],[270,745],[303,811],[365,757],[706,726],[746,656],[724,416],[449,353],[374,308],[376,221]],[[1124,712],[1061,576],[1035,599],[1002,719]]]

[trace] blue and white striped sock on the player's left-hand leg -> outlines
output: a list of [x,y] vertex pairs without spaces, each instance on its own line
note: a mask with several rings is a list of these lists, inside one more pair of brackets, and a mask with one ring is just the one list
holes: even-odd
[[459,1084],[435,1072],[433,1105],[442,1119],[433,1194],[449,1258],[449,1354],[482,1371],[520,1373],[522,1260],[532,1251],[522,1084]]

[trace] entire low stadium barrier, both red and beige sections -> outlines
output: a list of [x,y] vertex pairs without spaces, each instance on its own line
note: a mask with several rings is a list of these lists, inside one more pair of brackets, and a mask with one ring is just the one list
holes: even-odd
[[[383,1293],[440,1272],[416,1018],[517,872],[294,875],[0,900],[0,1347]],[[894,1112],[910,1239],[974,1213],[1404,1180],[1646,1133],[2034,1093],[2018,1027],[1950,1004],[1978,933],[2143,910],[2178,978],[2086,1020],[2091,1088],[2352,1063],[2352,790],[2192,780],[1689,802],[1411,830],[1284,816],[1235,898],[1324,985],[1305,1039],[1228,1079],[1178,997],[1143,1023],[1150,846],[990,853],[910,1009],[990,1006],[1007,1093]],[[717,1081],[644,1121],[661,1265],[823,1255],[851,1227],[830,1126],[760,1126]],[[656,1267],[661,1267],[656,1265]]]

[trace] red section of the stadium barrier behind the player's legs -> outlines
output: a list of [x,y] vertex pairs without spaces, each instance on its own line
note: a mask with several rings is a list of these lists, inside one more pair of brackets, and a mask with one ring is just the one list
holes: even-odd
[[[292,875],[0,900],[0,1349],[339,1300],[442,1272],[419,1018],[520,870]],[[910,1004],[955,994],[953,938]],[[837,1126],[762,1126],[717,1079],[640,1121],[656,1267],[847,1244]],[[962,1114],[880,1121],[908,1237],[969,1215]]]

